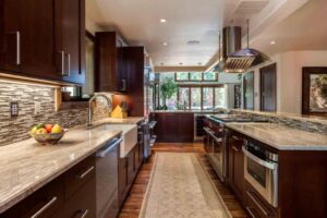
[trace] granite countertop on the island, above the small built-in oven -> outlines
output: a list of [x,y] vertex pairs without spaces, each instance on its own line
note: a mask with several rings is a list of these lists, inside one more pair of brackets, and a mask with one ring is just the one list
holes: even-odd
[[226,126],[280,150],[327,150],[327,135],[276,123],[227,123]]

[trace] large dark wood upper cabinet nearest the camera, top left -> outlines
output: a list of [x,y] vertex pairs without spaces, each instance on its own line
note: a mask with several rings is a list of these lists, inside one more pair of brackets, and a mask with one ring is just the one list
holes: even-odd
[[84,84],[84,0],[1,0],[0,10],[2,72]]

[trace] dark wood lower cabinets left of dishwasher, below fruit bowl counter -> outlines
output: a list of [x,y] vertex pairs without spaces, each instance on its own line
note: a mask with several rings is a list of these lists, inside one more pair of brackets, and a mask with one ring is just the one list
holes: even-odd
[[84,215],[85,218],[95,218],[95,170],[88,170],[94,168],[95,157],[90,156],[1,214],[0,217],[75,218]]

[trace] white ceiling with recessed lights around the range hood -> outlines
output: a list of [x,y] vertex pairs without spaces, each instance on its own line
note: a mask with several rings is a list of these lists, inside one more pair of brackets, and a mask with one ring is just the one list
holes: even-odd
[[[306,2],[310,5],[304,5]],[[130,45],[145,46],[154,65],[179,66],[182,62],[183,66],[198,66],[217,60],[219,32],[232,20],[233,24],[243,25],[250,17],[251,47],[269,55],[284,49],[320,48],[327,41],[326,3],[326,0],[86,0],[86,16],[104,31],[119,31]],[[160,23],[160,19],[167,22]],[[201,44],[187,45],[189,40]],[[270,40],[276,40],[275,47]]]

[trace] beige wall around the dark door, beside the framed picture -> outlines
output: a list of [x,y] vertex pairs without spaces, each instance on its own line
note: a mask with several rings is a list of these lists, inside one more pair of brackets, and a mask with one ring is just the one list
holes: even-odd
[[[277,63],[278,112],[301,113],[302,68],[326,66],[326,57],[327,51],[288,51],[271,57],[272,62]],[[259,110],[259,68],[253,70],[254,107]]]

